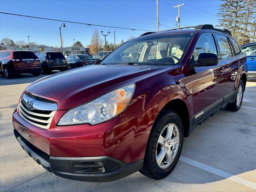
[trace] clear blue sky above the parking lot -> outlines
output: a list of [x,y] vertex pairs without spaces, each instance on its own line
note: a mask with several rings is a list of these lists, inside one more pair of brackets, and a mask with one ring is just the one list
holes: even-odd
[[[91,24],[156,30],[156,0],[67,1],[0,0],[0,11]],[[178,12],[176,8],[173,8],[173,5],[177,5],[179,2],[185,4],[181,7],[181,26],[198,24],[213,24],[215,26],[218,23],[216,14],[218,13],[218,6],[221,4],[219,0],[159,0],[159,22],[161,24],[159,30],[176,27]],[[59,47],[59,26],[61,24],[62,22],[58,21],[0,14],[0,39],[10,38],[14,42],[18,40],[28,42],[27,36],[30,36],[30,41]],[[95,28],[99,32],[102,30],[104,32],[110,31],[107,40],[114,42],[114,28],[66,23],[66,28],[62,28],[64,46],[72,46],[73,38],[82,42],[84,46],[90,44],[90,38]],[[126,41],[130,36],[138,36],[142,33],[144,32],[116,29],[116,43],[122,39]]]

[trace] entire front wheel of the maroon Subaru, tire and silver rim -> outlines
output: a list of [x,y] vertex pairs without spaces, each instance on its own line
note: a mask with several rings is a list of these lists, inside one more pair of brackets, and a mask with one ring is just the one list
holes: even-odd
[[[168,134],[166,131],[169,129],[171,130],[171,127],[173,128],[171,139],[167,140],[166,136]],[[160,180],[168,176],[180,158],[183,146],[183,130],[182,120],[177,113],[172,110],[166,110],[162,113],[162,115],[156,119],[156,122],[150,132],[144,158],[144,165],[142,170],[140,170],[140,173],[155,180]],[[166,138],[166,140],[164,140],[165,143],[160,143],[160,141],[162,141],[160,136]],[[170,145],[170,142],[173,140],[176,141],[176,144],[172,146]],[[161,158],[158,157],[160,157],[160,154],[162,153],[164,153],[164,158],[161,161]],[[168,158],[168,154],[169,157],[171,154],[171,159]],[[157,159],[159,160],[157,161]]]

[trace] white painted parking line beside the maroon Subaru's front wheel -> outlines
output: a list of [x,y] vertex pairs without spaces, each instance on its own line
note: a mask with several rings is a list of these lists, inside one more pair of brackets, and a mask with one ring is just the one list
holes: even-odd
[[215,175],[218,175],[218,176],[221,176],[223,178],[232,180],[234,182],[237,182],[239,184],[242,184],[244,186],[247,186],[249,188],[252,188],[252,189],[256,190],[256,183],[254,183],[252,181],[246,180],[246,179],[241,178],[239,176],[232,175],[230,173],[224,172],[222,170],[216,169],[214,167],[208,166],[206,164],[200,163],[198,161],[192,160],[192,159],[184,157],[184,156],[180,156],[180,160],[182,162],[185,162],[185,163],[190,164],[192,166],[198,167],[200,169],[203,169],[203,170],[206,170],[208,172],[211,172],[211,173],[213,173]]

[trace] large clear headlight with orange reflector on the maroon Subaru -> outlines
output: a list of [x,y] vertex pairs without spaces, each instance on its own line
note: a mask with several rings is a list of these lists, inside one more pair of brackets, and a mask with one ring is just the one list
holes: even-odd
[[111,91],[86,104],[68,110],[60,125],[98,124],[110,120],[125,110],[134,93],[135,84],[130,84]]

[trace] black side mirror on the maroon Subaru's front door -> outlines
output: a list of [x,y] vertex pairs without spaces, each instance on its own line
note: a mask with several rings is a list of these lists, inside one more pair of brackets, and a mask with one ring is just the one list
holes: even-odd
[[195,61],[195,66],[214,66],[218,65],[218,55],[214,53],[200,53],[198,59]]

